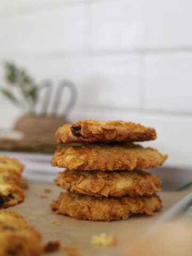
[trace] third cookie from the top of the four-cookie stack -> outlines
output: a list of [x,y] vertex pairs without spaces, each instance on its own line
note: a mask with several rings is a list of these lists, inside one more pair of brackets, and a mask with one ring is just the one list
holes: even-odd
[[161,179],[145,171],[103,172],[66,170],[55,183],[70,192],[90,196],[151,196],[162,187]]

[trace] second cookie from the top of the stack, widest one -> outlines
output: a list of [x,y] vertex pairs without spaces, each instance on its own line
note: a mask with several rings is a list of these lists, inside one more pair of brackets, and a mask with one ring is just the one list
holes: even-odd
[[153,148],[143,148],[132,143],[85,143],[80,146],[58,147],[52,166],[70,170],[127,170],[151,169],[162,165],[167,155]]

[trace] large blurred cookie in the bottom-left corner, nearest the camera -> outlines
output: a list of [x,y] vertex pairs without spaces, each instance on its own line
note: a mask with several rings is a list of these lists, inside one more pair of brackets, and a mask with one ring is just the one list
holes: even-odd
[[38,256],[41,235],[17,212],[0,211],[0,255]]

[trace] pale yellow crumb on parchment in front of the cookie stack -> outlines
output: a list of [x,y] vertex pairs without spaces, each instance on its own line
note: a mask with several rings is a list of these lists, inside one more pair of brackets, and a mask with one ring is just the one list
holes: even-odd
[[117,244],[117,237],[115,235],[108,236],[105,233],[93,235],[91,243],[94,245],[114,246]]

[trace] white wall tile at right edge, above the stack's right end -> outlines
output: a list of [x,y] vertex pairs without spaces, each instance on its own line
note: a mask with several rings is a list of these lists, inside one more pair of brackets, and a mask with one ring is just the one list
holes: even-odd
[[148,54],[143,58],[144,107],[192,113],[192,52]]

